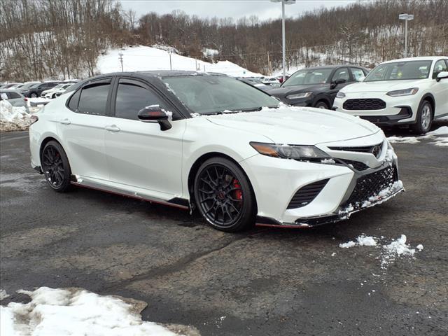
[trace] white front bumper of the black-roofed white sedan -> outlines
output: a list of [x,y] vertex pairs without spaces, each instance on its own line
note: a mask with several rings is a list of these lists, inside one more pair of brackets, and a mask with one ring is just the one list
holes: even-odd
[[[387,152],[381,165],[363,171],[337,158],[335,164],[323,164],[255,155],[240,162],[257,200],[257,223],[307,228],[342,221],[385,202],[404,190],[396,155],[391,149]],[[314,200],[288,209],[304,186],[324,180],[328,181]]]

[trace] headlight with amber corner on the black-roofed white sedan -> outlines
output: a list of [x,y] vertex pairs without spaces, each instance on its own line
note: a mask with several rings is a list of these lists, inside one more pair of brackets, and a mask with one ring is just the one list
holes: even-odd
[[258,153],[262,155],[272,156],[274,158],[293,160],[330,158],[327,153],[314,146],[264,144],[261,142],[251,142],[250,144]]

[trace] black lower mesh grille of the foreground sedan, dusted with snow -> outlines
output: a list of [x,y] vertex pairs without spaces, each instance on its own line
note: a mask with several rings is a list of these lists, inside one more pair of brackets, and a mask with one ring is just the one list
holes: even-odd
[[377,195],[395,181],[398,181],[395,167],[387,167],[372,174],[360,176],[346,206],[351,204],[355,209],[362,207],[363,202],[367,201],[369,197]]

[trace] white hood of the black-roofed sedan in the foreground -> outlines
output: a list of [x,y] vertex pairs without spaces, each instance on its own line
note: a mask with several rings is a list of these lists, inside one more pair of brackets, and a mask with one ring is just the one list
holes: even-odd
[[203,118],[223,127],[264,135],[276,144],[316,145],[367,137],[380,131],[366,120],[311,107],[281,106]]

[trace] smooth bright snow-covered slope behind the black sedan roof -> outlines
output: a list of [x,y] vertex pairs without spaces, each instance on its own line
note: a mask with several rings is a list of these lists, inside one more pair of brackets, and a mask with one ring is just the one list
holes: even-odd
[[[99,73],[121,71],[120,57],[118,55],[120,53],[123,53],[124,71],[170,69],[169,52],[160,48],[140,45],[132,48],[108,50],[105,55],[98,57],[97,71]],[[248,71],[229,61],[220,61],[212,64],[200,59],[181,56],[174,52],[171,54],[171,64],[173,70],[218,72],[234,77],[262,76],[260,73]]]

